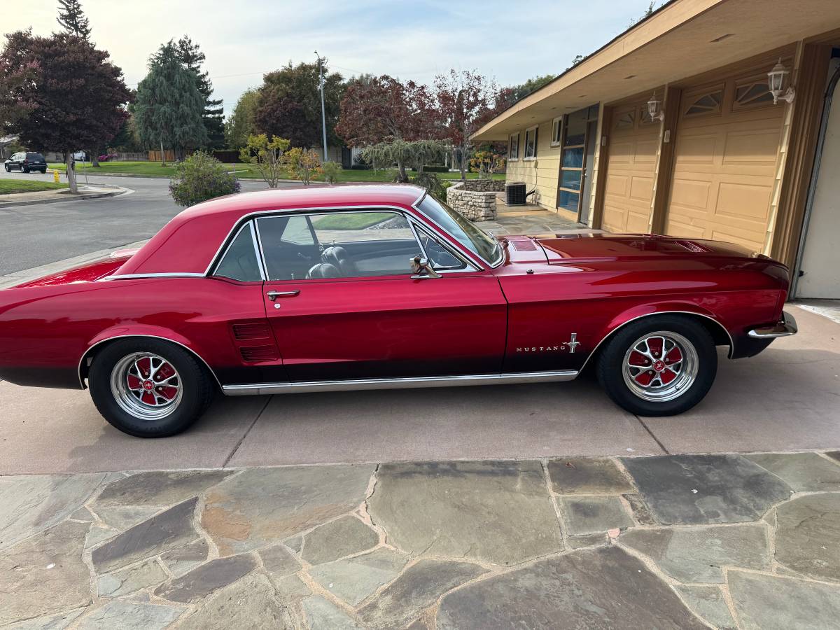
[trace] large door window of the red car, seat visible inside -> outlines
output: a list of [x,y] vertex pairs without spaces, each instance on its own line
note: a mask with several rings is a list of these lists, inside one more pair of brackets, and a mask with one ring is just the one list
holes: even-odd
[[314,213],[260,218],[270,280],[409,276],[420,254],[412,228],[391,211]]

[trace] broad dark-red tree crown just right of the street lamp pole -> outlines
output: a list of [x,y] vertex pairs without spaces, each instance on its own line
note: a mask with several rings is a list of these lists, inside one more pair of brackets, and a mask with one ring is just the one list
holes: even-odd
[[428,87],[392,76],[362,76],[349,82],[335,131],[348,144],[392,139],[439,139],[440,112]]

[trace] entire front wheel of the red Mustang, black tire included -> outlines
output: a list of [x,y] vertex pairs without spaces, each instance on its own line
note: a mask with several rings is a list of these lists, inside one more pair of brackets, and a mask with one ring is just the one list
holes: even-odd
[[[667,341],[660,343],[654,333],[664,333]],[[639,343],[646,335],[651,335],[650,346]],[[669,343],[675,344],[676,352],[672,352],[675,346]],[[657,350],[663,344],[664,348]],[[668,356],[675,358],[673,365],[681,362],[679,370],[664,365]],[[682,357],[680,362],[676,361],[678,356]],[[643,361],[648,364],[633,365],[625,371],[627,363]],[[675,416],[706,396],[717,374],[717,350],[711,334],[696,320],[680,315],[652,316],[628,323],[606,342],[598,356],[596,373],[606,393],[628,412],[638,416]],[[666,383],[666,378],[671,380]],[[644,381],[648,381],[646,386]],[[662,397],[651,399],[656,396]]]

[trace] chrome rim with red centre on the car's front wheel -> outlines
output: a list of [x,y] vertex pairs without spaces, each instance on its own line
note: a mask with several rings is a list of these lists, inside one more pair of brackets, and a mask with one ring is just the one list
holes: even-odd
[[668,402],[694,385],[699,370],[694,344],[681,334],[659,331],[630,345],[622,373],[634,395],[649,402]]

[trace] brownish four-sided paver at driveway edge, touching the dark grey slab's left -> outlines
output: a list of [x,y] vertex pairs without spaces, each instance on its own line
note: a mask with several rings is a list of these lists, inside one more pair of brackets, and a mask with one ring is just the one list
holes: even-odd
[[603,457],[552,459],[549,477],[552,489],[561,495],[620,495],[633,491],[615,461]]

